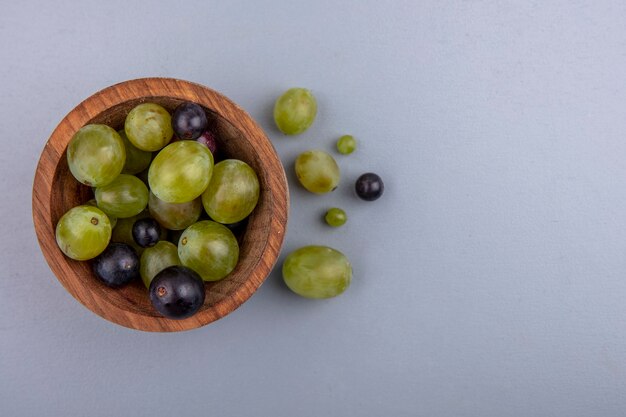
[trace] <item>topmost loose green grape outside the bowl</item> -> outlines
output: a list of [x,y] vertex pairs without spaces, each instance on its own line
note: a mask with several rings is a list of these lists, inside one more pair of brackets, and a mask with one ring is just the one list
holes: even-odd
[[317,114],[315,97],[306,88],[290,88],[274,104],[274,122],[286,135],[307,130]]

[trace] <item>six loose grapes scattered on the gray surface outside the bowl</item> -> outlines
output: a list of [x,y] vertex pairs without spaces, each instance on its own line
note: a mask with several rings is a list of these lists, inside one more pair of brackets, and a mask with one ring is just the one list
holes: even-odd
[[[317,102],[304,88],[292,88],[281,95],[274,105],[274,121],[287,135],[306,131],[317,115]],[[356,149],[356,140],[344,135],[337,141],[337,151],[348,155]],[[327,152],[309,150],[296,158],[296,177],[308,191],[325,194],[337,188],[340,170]],[[356,194],[373,201],[383,194],[382,179],[371,172],[361,175],[355,184]],[[346,212],[333,207],[326,212],[326,223],[339,227],[346,223]],[[352,279],[352,266],[340,251],[328,246],[305,246],[290,253],[283,263],[283,279],[296,294],[307,298],[330,298],[343,293]]]

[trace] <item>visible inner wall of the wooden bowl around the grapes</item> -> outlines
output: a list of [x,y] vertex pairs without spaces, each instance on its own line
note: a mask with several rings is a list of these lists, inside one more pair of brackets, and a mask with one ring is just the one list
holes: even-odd
[[[107,108],[89,120],[88,123],[102,123],[119,130],[124,126],[126,114],[140,103],[158,103],[171,113],[182,101],[180,98],[165,96],[130,99]],[[238,236],[240,254],[237,267],[226,278],[205,284],[206,301],[196,315],[201,315],[205,310],[211,309],[225,299],[232,297],[233,293],[240,286],[251,285],[247,283],[248,277],[261,261],[264,246],[270,237],[271,231],[272,195],[269,189],[268,178],[272,173],[266,171],[267,167],[262,163],[262,158],[259,156],[252,139],[246,137],[218,113],[206,107],[205,110],[210,127],[217,133],[219,149],[217,157],[220,159],[236,158],[249,164],[257,173],[261,192],[257,207],[249,216],[245,229]],[[77,126],[77,128],[80,128],[80,126]],[[52,179],[49,206],[52,227],[56,227],[58,220],[69,209],[83,204],[91,198],[93,198],[91,188],[76,181],[69,171],[66,155],[63,153]],[[114,305],[130,313],[131,316],[139,315],[145,318],[168,321],[160,316],[150,304],[148,292],[141,280],[136,280],[120,289],[112,289],[101,284],[94,276],[90,262],[78,262],[69,259],[63,256],[60,250],[58,250],[58,255],[62,258],[60,261],[67,263],[68,269],[73,271],[75,278],[80,280],[81,285],[86,287],[90,296],[98,299],[99,304]],[[212,321],[212,319],[208,319],[208,321]]]

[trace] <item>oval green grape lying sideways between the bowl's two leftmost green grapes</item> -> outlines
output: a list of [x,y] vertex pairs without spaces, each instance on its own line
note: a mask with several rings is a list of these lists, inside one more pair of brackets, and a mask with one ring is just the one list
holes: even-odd
[[148,188],[139,178],[120,174],[111,184],[96,188],[96,201],[107,215],[132,217],[148,205]]

